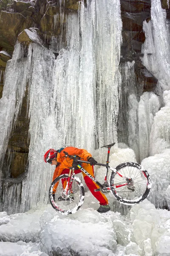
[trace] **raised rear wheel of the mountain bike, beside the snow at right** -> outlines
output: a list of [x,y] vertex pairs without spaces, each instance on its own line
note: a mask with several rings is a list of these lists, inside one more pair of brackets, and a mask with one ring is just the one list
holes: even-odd
[[112,194],[122,204],[142,202],[150,193],[151,180],[148,172],[138,163],[122,163],[111,173]]

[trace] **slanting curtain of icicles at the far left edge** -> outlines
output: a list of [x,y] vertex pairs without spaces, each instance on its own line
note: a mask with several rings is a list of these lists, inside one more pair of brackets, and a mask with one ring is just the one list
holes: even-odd
[[12,125],[13,122],[16,125],[25,96],[27,73],[28,62],[23,58],[22,47],[17,43],[12,59],[6,67],[3,97],[0,99],[0,163],[3,162]]

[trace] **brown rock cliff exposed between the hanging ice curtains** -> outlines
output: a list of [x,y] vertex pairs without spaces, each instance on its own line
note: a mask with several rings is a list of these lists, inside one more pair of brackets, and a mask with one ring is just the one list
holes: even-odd
[[[51,38],[63,33],[60,20],[65,15],[77,12],[80,0],[65,0],[65,6],[59,6],[59,0],[14,0],[11,12],[0,12],[0,98],[3,90],[3,77],[6,62],[11,58],[16,41],[28,45],[34,42],[44,47],[50,46]],[[161,0],[162,8],[170,19],[170,3]],[[143,82],[144,91],[152,91],[157,79],[140,61],[145,35],[143,21],[150,20],[150,0],[121,0],[122,38],[121,62],[135,61],[135,73],[138,81]],[[61,18],[62,17],[62,18]],[[58,20],[58,23],[56,22]],[[23,101],[17,126],[11,135],[6,154],[11,177],[18,177],[26,170],[28,158],[28,120],[26,119],[26,97]],[[19,168],[20,166],[20,168]],[[7,168],[7,167],[6,167]]]

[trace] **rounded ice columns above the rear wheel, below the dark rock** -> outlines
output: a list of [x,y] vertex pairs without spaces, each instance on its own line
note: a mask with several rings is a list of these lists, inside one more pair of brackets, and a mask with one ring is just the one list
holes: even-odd
[[151,92],[141,95],[143,85],[136,86],[134,61],[122,63],[120,71],[122,84],[119,90],[119,142],[127,143],[140,163],[149,156],[150,131],[153,117],[160,108],[159,98]]

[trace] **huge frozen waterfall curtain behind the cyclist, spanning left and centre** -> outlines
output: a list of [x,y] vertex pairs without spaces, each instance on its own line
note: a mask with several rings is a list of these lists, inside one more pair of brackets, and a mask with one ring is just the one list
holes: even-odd
[[[30,44],[27,56],[26,52],[22,53],[22,46],[16,44],[6,69],[6,84],[0,102],[2,109],[6,106],[1,112],[5,129],[4,121],[0,123],[3,156],[13,119],[16,122],[28,88],[30,146],[27,177],[22,182],[21,212],[38,202],[48,201],[52,168],[43,162],[43,154],[48,148],[72,145],[94,154],[95,148],[117,142],[122,42],[120,2],[91,0],[85,6],[82,1],[77,14],[65,17],[67,45],[59,51],[56,60],[51,50],[58,49],[57,40],[52,40],[51,50]],[[57,17],[54,23],[56,26]],[[64,45],[62,37],[59,40],[61,47]],[[8,200],[5,196],[3,201]],[[12,201],[8,202],[10,212],[14,208]],[[18,206],[20,201],[15,204]]]

